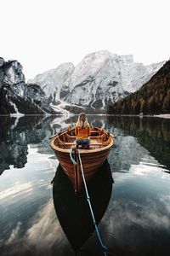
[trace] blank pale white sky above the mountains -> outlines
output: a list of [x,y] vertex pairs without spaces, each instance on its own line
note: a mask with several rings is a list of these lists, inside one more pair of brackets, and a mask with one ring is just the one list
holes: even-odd
[[170,58],[169,0],[0,0],[0,56],[26,80],[88,53],[133,54],[144,65]]

